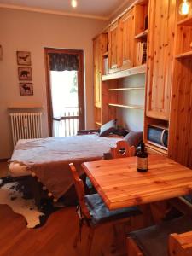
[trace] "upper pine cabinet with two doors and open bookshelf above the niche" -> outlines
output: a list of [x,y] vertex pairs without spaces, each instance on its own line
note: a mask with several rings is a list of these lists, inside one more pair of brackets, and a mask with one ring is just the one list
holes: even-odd
[[[146,63],[148,0],[138,1],[108,29],[109,73],[120,73]],[[129,74],[129,72],[128,72]]]

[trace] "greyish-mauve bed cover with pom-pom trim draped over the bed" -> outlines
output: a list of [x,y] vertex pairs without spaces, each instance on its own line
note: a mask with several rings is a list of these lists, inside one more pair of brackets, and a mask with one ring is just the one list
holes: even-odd
[[103,153],[107,153],[120,139],[122,137],[90,134],[20,140],[9,160],[9,172],[14,177],[18,169],[18,176],[22,169],[26,170],[26,175],[34,172],[38,180],[58,199],[73,183],[68,166],[70,162],[73,162],[81,175],[82,162],[101,160]]

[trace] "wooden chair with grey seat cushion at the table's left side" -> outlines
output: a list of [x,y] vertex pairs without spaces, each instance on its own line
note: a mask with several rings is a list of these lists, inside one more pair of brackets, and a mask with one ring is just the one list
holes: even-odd
[[84,183],[80,179],[73,163],[69,164],[75,189],[79,198],[79,206],[77,212],[79,215],[79,233],[75,237],[73,247],[77,247],[77,243],[81,238],[81,231],[84,225],[89,228],[88,242],[86,247],[86,256],[90,256],[91,245],[96,228],[102,224],[112,222],[125,222],[132,216],[137,216],[142,212],[137,207],[126,207],[119,210],[109,211],[105,207],[102,198],[98,194],[84,195]]

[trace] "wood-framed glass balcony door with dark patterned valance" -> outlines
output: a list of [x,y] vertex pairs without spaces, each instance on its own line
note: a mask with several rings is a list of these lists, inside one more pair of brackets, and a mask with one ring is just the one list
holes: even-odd
[[47,67],[49,136],[66,137],[84,129],[83,51],[44,49]]

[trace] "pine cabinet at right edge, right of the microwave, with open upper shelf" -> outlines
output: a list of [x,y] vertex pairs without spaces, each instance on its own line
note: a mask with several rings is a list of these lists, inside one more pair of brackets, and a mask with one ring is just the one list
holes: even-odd
[[192,14],[178,14],[172,79],[169,157],[192,168]]

